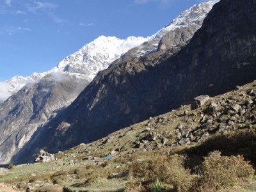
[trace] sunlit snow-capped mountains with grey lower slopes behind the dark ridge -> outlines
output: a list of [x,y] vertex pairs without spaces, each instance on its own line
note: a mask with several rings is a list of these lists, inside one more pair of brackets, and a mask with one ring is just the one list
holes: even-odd
[[[147,43],[132,49],[132,52],[125,53],[120,60],[145,55],[147,51],[155,52],[156,44],[169,33],[177,34],[175,38],[168,38],[170,45],[186,44],[193,33],[200,28],[202,20],[214,3],[215,1],[212,1],[193,6],[183,12],[172,24],[148,38],[129,37],[127,40],[120,40],[115,37],[100,36],[65,58],[49,72],[34,74],[35,78],[31,80],[31,84],[22,88],[0,106],[0,130],[3,130],[0,137],[1,163],[7,163],[13,154],[24,147],[31,136],[33,136],[31,141],[35,141],[37,137],[40,138],[45,122],[53,119],[56,112],[70,104],[99,70],[108,67],[109,63],[119,58],[128,49],[148,40]],[[171,43],[173,41],[174,44]],[[167,43],[166,40],[164,42]],[[141,51],[141,47],[147,51]],[[15,77],[10,81],[15,83],[13,89],[20,86],[20,81],[28,83],[26,79],[22,80],[22,77]],[[66,126],[68,123],[63,123],[60,129],[65,129]],[[57,145],[58,143],[62,145],[61,142],[56,141]]]

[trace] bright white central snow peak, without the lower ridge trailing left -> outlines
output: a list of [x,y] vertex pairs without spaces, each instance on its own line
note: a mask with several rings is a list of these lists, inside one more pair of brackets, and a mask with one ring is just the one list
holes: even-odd
[[92,81],[97,72],[107,68],[110,63],[120,58],[129,49],[147,40],[148,38],[135,36],[129,36],[125,40],[115,36],[99,36],[61,61],[57,67],[52,69],[52,72],[68,73]]

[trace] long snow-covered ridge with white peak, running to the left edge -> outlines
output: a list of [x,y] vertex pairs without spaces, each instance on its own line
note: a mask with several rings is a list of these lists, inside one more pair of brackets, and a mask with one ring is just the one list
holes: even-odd
[[51,73],[61,73],[92,81],[99,70],[107,68],[112,61],[120,58],[129,49],[147,40],[148,38],[135,36],[129,36],[125,40],[115,36],[99,36],[47,72],[33,73],[28,77],[15,76],[0,82],[0,102],[18,92],[26,84],[38,83],[40,79]]

